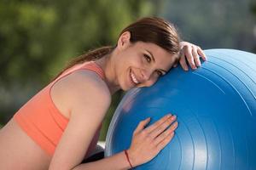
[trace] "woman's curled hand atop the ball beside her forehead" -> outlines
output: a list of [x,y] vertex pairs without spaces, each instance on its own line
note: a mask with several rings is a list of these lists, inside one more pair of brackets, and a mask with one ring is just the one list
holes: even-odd
[[[199,46],[189,42],[180,42],[179,45],[181,47],[179,64],[183,67],[184,71],[189,70],[187,62],[190,67],[195,70],[197,67],[201,66],[200,57],[203,60],[207,60],[206,54],[204,54]],[[174,67],[176,66],[177,65],[174,65]]]

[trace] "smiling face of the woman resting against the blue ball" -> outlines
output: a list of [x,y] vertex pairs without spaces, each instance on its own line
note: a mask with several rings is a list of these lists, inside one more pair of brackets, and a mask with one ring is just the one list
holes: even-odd
[[123,90],[153,85],[172,68],[177,57],[150,42],[129,42],[120,49],[115,72]]

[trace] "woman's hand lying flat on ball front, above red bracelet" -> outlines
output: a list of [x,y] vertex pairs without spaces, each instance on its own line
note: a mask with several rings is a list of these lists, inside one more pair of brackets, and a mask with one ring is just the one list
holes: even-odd
[[149,127],[145,128],[150,118],[138,124],[133,132],[131,147],[127,150],[133,167],[153,159],[172,140],[177,128],[175,120],[176,116],[168,114]]

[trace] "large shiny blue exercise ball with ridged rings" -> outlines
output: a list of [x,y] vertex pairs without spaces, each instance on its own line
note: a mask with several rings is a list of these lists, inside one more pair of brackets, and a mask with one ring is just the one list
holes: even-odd
[[256,54],[205,50],[195,71],[172,69],[150,88],[131,89],[108,128],[106,156],[128,149],[137,124],[167,113],[179,126],[172,141],[144,170],[256,169]]

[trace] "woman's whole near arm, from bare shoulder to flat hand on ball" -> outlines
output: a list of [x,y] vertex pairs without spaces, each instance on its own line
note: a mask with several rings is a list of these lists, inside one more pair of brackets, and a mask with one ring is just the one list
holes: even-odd
[[[98,81],[87,73],[85,76],[73,75],[66,82],[63,81],[67,83],[67,89],[63,88],[63,93],[67,95],[65,99],[69,101],[66,103],[72,114],[50,162],[50,170],[130,168],[124,151],[100,161],[80,164],[110,105],[108,88],[104,82]],[[175,119],[175,116],[168,115],[146,128],[149,118],[139,123],[133,133],[131,147],[127,150],[133,167],[153,159],[171,141],[177,127],[177,123],[172,124]]]

